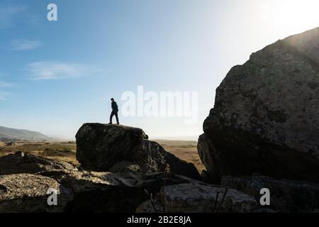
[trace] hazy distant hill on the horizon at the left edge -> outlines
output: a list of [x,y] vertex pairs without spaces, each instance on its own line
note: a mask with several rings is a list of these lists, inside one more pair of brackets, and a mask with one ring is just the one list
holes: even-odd
[[0,126],[0,141],[8,140],[31,140],[31,141],[43,141],[51,140],[50,137],[43,135],[42,133],[28,131],[16,128],[6,128]]

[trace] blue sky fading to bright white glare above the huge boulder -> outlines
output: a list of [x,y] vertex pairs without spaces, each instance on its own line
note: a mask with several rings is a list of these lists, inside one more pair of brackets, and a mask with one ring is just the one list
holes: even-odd
[[[47,21],[57,4],[58,21]],[[109,99],[198,92],[198,121],[121,117],[152,138],[200,135],[233,65],[319,26],[316,0],[0,0],[0,126],[74,138],[108,123]]]

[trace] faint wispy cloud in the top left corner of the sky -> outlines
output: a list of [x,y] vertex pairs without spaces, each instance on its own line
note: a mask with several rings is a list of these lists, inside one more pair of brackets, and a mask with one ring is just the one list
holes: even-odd
[[10,28],[14,24],[14,19],[19,13],[26,11],[26,6],[4,6],[0,5],[0,28]]

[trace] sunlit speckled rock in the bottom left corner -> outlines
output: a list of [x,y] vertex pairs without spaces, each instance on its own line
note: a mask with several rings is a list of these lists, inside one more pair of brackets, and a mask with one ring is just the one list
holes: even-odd
[[[47,204],[49,189],[57,190],[58,206]],[[0,175],[0,213],[64,212],[73,196],[71,189],[62,187],[50,177]]]

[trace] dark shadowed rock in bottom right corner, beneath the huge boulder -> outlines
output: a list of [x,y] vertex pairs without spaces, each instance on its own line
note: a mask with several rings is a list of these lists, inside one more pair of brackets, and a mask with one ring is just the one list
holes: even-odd
[[[276,212],[319,212],[319,184],[266,176],[224,176],[222,186],[250,194],[258,202],[262,196],[260,190],[267,188],[270,192],[268,209]],[[259,209],[264,207],[259,206]]]

